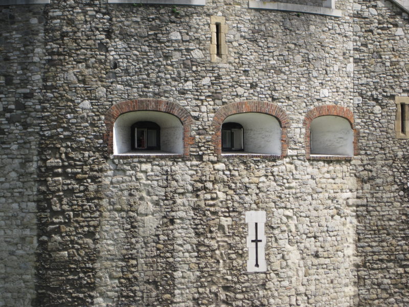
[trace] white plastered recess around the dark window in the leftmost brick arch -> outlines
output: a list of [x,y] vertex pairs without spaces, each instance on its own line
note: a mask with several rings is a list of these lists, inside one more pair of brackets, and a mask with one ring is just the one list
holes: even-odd
[[157,111],[135,111],[120,115],[113,125],[114,155],[147,152],[132,148],[131,126],[138,122],[152,122],[160,127],[160,152],[183,153],[183,125],[176,116]]

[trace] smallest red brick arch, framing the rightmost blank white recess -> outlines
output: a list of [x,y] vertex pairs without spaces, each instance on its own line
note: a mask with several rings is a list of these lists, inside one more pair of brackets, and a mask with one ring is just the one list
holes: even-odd
[[[355,129],[354,126],[354,114],[352,113],[352,111],[347,108],[347,107],[343,107],[343,106],[339,106],[339,105],[335,105],[335,104],[328,104],[328,105],[320,105],[317,107],[314,107],[313,109],[311,109],[310,111],[308,111],[308,113],[306,114],[305,118],[304,118],[304,123],[303,126],[305,128],[305,136],[304,136],[304,141],[305,141],[305,155],[307,157],[307,159],[310,159],[310,155],[311,155],[311,140],[310,140],[310,126],[311,126],[311,122],[320,116],[327,116],[327,115],[331,115],[331,116],[339,116],[339,117],[343,117],[346,120],[349,121],[349,123],[351,124],[351,128],[354,132],[354,155],[358,155],[359,154],[359,148],[358,148],[358,142],[357,142],[357,138],[358,138],[358,130]],[[320,157],[319,159],[324,159],[323,157]],[[325,157],[325,159],[334,159],[333,157]],[[342,159],[342,158],[339,158]]]

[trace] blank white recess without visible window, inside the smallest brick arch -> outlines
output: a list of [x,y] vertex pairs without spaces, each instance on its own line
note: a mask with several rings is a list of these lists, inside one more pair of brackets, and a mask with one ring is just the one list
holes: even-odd
[[350,122],[339,116],[321,116],[311,122],[311,155],[354,155]]

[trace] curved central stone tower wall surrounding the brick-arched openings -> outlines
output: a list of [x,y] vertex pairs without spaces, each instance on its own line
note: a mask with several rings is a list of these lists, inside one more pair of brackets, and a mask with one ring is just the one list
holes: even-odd
[[[356,303],[355,165],[307,161],[303,135],[314,106],[352,109],[352,20],[240,4],[50,4],[42,306]],[[212,15],[226,63],[210,62]],[[108,108],[141,98],[191,114],[187,159],[108,155]],[[288,114],[286,158],[216,155],[215,112],[243,100]],[[267,213],[265,273],[246,273],[246,210]]]

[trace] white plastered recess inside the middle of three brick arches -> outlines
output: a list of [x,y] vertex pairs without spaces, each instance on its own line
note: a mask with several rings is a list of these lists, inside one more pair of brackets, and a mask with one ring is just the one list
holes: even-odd
[[[245,153],[281,155],[281,126],[274,116],[253,112],[240,113],[227,117],[223,121],[223,124],[225,123],[238,123],[243,127],[242,147]],[[221,137],[223,144],[223,134]]]

